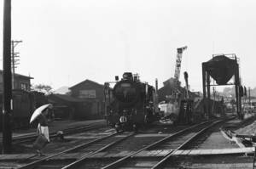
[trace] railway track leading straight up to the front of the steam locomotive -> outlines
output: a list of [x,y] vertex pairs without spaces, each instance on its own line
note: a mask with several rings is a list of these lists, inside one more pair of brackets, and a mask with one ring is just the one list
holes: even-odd
[[89,143],[80,144],[72,149],[67,149],[55,155],[50,155],[43,159],[39,159],[38,161],[33,161],[25,166],[20,166],[19,168],[63,168],[73,166],[73,164],[79,164],[79,162],[84,161],[90,155],[95,155],[96,153],[109,149],[115,144],[119,144],[119,142],[134,134],[134,132],[115,132],[103,138],[92,140]]

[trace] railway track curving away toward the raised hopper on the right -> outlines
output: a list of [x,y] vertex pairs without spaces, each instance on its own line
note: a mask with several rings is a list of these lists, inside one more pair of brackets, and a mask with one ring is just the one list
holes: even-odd
[[[218,124],[221,121],[207,121],[201,124],[183,129],[180,132],[176,132],[166,138],[162,138],[154,144],[149,144],[143,149],[139,149],[131,155],[127,155],[118,161],[114,161],[108,166],[102,167],[102,169],[110,168],[162,168],[165,166],[166,161],[168,161],[172,155],[178,149],[183,149],[188,145],[192,140],[198,138],[203,132],[206,132],[210,127]],[[167,153],[165,156],[147,156],[149,153],[163,152],[166,150]],[[65,169],[67,169],[66,167]]]

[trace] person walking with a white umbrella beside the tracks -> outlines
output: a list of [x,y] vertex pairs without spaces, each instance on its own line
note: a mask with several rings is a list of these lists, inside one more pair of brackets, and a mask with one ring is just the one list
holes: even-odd
[[45,104],[39,107],[32,114],[30,123],[38,119],[38,138],[36,139],[33,147],[37,149],[38,155],[42,155],[41,150],[45,147],[46,144],[49,144],[49,127],[47,115],[49,114],[49,109],[52,109],[52,104]]

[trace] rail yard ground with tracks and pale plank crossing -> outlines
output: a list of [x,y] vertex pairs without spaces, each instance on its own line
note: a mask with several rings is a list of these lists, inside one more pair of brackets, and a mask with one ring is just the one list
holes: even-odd
[[[224,138],[221,127],[254,134],[256,117],[205,121],[189,126],[154,124],[116,133],[106,121],[55,121],[44,156],[35,155],[35,128],[14,132],[15,152],[0,155],[0,168],[253,168],[253,147]],[[64,131],[64,139],[54,137]],[[65,132],[66,131],[66,132]],[[17,140],[15,140],[17,139]],[[73,149],[75,148],[75,149]]]

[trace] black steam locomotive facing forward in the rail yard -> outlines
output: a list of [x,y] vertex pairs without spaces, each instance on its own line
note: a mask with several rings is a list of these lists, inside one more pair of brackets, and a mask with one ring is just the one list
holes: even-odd
[[107,107],[107,121],[117,132],[137,130],[138,127],[158,119],[158,107],[154,87],[141,82],[139,76],[125,72],[119,81],[116,76],[113,96]]

